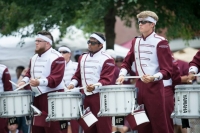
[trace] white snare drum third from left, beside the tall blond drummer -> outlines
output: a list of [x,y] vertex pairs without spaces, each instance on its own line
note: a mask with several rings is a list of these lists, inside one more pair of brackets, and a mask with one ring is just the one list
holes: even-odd
[[134,85],[108,85],[100,89],[100,111],[98,116],[126,116],[135,105]]

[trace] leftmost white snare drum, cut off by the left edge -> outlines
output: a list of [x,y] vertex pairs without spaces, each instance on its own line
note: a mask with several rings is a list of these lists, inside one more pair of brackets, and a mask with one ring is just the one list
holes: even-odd
[[30,90],[6,91],[0,93],[0,117],[20,117],[31,114],[33,92]]

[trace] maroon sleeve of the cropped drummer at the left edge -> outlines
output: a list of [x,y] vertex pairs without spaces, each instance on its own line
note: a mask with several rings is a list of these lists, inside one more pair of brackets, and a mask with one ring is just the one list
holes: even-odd
[[9,80],[11,80],[11,77],[10,73],[8,72],[8,68],[6,68],[2,76],[4,91],[12,91],[12,84],[9,82]]

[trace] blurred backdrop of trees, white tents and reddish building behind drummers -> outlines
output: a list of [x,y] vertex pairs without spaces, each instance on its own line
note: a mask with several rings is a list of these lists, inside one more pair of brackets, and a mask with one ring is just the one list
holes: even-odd
[[74,56],[87,51],[92,32],[102,32],[104,48],[125,57],[140,35],[136,15],[143,10],[157,13],[156,33],[176,59],[189,62],[200,49],[199,8],[199,0],[0,0],[0,63],[14,78],[17,66],[28,66],[41,30],[52,33],[55,49],[66,45]]

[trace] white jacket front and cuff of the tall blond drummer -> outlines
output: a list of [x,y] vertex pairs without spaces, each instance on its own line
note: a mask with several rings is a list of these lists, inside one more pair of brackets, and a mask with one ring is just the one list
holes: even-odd
[[160,71],[158,56],[157,56],[157,45],[161,40],[165,38],[158,36],[153,32],[145,40],[136,38],[135,46],[133,51],[135,53],[135,63],[139,76],[149,74],[156,76],[154,81],[161,80],[163,74]]

